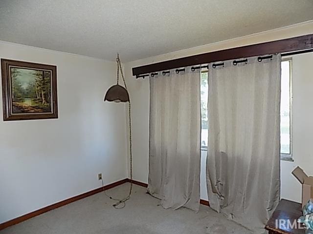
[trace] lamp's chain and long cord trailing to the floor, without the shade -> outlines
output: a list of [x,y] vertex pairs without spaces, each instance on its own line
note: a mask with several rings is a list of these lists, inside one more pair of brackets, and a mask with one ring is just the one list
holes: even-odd
[[[128,92],[126,81],[125,81],[123,70],[122,70],[122,66],[121,66],[121,61],[119,59],[119,55],[118,54],[117,54],[116,62],[117,62],[117,84],[118,84],[118,80],[119,80],[119,70],[120,70],[125,89]],[[130,99],[129,102],[128,102],[128,123],[129,123],[128,127],[129,127],[129,155],[130,155],[130,176],[131,176],[131,181],[130,182],[131,182],[131,186],[130,186],[130,189],[129,189],[128,196],[126,196],[124,199],[115,199],[112,196],[107,195],[107,193],[105,192],[105,189],[104,189],[103,179],[101,178],[101,180],[102,180],[102,188],[103,188],[104,194],[107,197],[109,197],[110,199],[112,199],[114,201],[117,201],[116,203],[114,203],[112,205],[115,209],[123,209],[125,207],[125,205],[126,205],[125,202],[127,200],[129,200],[129,198],[131,197],[132,191],[133,191],[133,182],[132,182],[133,181],[133,150],[132,150],[133,147],[132,147],[132,115],[131,115],[131,113],[132,113],[132,111],[131,111],[131,99]]]

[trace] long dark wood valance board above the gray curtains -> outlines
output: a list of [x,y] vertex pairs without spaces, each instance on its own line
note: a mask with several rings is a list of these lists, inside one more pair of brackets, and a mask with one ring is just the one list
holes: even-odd
[[[268,54],[286,53],[291,51],[299,51],[299,53],[301,53],[301,50],[308,49],[313,49],[313,34],[289,39],[269,41],[260,44],[246,45],[242,47],[157,62],[140,67],[133,67],[133,76],[142,77],[143,74],[147,73],[155,73],[178,67],[187,67],[229,59],[263,56]],[[282,56],[294,55],[294,53],[297,52],[286,53]]]

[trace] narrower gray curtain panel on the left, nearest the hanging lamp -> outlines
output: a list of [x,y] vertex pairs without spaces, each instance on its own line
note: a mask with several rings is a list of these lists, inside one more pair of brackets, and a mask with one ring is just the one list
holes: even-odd
[[164,208],[199,210],[200,135],[199,69],[150,78],[148,191]]

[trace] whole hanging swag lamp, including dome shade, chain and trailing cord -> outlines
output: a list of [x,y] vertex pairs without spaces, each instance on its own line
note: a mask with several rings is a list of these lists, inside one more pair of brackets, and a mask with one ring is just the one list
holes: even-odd
[[[113,204],[113,207],[116,209],[122,209],[125,207],[125,202],[131,197],[132,190],[133,190],[133,150],[132,150],[132,116],[131,116],[131,100],[129,98],[129,94],[127,91],[127,85],[126,81],[124,78],[122,66],[121,66],[121,61],[119,59],[119,55],[117,54],[116,58],[116,63],[117,63],[117,75],[116,75],[116,84],[111,86],[104,98],[104,101],[114,101],[114,102],[128,102],[128,123],[129,123],[129,157],[130,157],[130,189],[129,189],[129,194],[126,196],[124,199],[115,199],[112,198],[112,196],[107,195],[110,197],[110,199],[117,201],[116,203]],[[123,79],[124,87],[118,84],[119,81],[119,72],[121,72],[121,76]],[[103,187],[104,188],[104,187]],[[122,205],[121,205],[122,204]]]

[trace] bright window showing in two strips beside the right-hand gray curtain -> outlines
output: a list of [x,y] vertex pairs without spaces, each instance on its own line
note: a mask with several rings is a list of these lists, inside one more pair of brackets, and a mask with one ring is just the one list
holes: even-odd
[[[291,156],[291,59],[282,61],[280,136],[281,158],[292,160]],[[208,72],[201,73],[201,149],[208,146]]]

